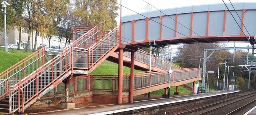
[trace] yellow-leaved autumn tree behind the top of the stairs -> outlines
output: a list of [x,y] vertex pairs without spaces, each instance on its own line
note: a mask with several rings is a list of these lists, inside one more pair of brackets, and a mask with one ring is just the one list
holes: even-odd
[[[115,2],[117,0],[114,0]],[[98,26],[102,31],[116,27],[118,6],[109,0],[75,0],[72,14],[82,24],[77,26]]]

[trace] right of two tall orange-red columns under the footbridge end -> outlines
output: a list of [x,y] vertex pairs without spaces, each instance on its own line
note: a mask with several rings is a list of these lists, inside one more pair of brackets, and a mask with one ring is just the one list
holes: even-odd
[[134,58],[135,52],[131,52],[131,75],[129,79],[130,103],[133,103],[133,83],[134,83]]

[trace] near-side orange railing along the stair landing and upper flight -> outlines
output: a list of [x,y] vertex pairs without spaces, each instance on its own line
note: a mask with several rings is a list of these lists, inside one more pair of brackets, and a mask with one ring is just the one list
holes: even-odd
[[119,44],[118,39],[119,27],[110,31],[104,38],[100,39],[97,43],[90,46],[88,49],[75,47],[72,54],[73,57],[77,57],[73,60],[74,69],[90,69],[89,73],[92,72],[100,63],[103,57],[113,51],[113,48],[117,48]]

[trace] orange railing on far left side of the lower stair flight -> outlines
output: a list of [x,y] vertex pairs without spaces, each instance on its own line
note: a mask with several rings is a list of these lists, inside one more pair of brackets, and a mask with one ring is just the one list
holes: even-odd
[[41,48],[25,59],[0,73],[0,99],[6,96],[8,87],[15,85],[45,63],[45,48]]

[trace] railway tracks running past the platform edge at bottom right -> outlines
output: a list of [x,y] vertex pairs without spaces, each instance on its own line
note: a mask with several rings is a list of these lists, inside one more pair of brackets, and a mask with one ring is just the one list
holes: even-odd
[[[218,103],[214,103],[214,104],[210,104],[210,105],[203,106],[203,107],[200,107],[200,108],[196,108],[196,109],[193,109],[193,110],[178,113],[176,115],[206,115],[206,114],[219,115],[219,114],[226,114],[228,112],[228,110],[227,109],[225,110],[225,108],[227,108],[228,106],[230,106],[232,104],[245,103],[246,102],[245,100],[248,100],[250,98],[256,98],[256,93],[251,93],[251,94],[248,94],[248,95],[243,95],[243,96],[239,96],[239,97],[236,97],[236,98],[228,99],[228,100],[221,101],[221,102],[218,102]],[[254,101],[256,101],[256,100],[254,100]],[[250,102],[252,102],[252,101],[250,101]],[[242,108],[237,109],[237,111],[239,111],[241,109]],[[230,113],[228,113],[227,115],[234,114],[237,111],[235,111],[235,110],[232,111],[232,112],[229,111]]]

